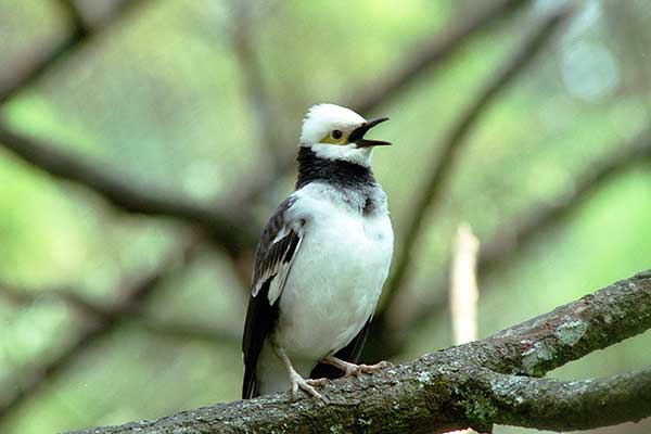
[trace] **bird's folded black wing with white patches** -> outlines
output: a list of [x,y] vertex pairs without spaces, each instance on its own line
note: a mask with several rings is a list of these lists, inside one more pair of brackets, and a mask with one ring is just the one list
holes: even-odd
[[288,216],[292,197],[267,222],[255,254],[253,283],[244,323],[242,398],[257,396],[255,371],[265,339],[278,318],[278,299],[301,246],[303,221]]

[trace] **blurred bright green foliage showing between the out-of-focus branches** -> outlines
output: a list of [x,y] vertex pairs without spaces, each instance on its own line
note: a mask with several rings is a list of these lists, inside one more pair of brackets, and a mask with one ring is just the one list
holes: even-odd
[[[104,4],[106,3],[106,4]],[[111,2],[81,1],[90,15]],[[478,1],[257,1],[256,49],[279,130],[296,145],[301,119],[317,102],[345,102],[416,43],[431,39]],[[500,22],[442,68],[425,74],[378,113],[391,122],[374,156],[395,229],[449,124],[518,46],[552,1]],[[471,224],[486,241],[537,204],[575,188],[576,176],[651,124],[651,4],[589,0],[562,36],[522,74],[469,138],[443,206],[417,245],[408,291],[435,296],[454,233]],[[270,164],[246,98],[230,31],[232,2],[149,1],[119,25],[2,106],[13,128],[81,153],[133,183],[218,203]],[[65,37],[55,1],[0,0],[0,77]],[[380,132],[378,132],[380,135]],[[651,170],[631,165],[481,279],[480,332],[488,335],[651,267]],[[292,177],[256,207],[259,227],[291,190]],[[151,269],[181,227],[125,215],[75,184],[60,182],[0,146],[0,281],[39,296],[29,305],[0,297],[0,403],[22,375],[75,336],[79,318],[48,295],[69,288],[111,302],[124,276]],[[241,329],[245,295],[219,250],[157,290],[148,305],[162,321]],[[418,303],[418,302],[417,302]],[[396,361],[451,345],[449,318],[432,318]],[[651,334],[552,373],[563,379],[624,372],[651,363]],[[170,339],[129,321],[103,339],[0,421],[2,433],[51,433],[155,418],[239,397],[238,342]],[[599,433],[647,433],[626,424]],[[497,427],[496,433],[527,430]]]

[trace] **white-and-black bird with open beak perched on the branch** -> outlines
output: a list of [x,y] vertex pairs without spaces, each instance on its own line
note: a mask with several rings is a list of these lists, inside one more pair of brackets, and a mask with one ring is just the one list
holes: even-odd
[[[365,135],[388,120],[335,104],[303,120],[294,192],[267,222],[255,254],[244,323],[242,398],[291,390],[323,399],[319,372],[376,372],[357,365],[390,271],[394,234]],[[329,371],[330,370],[330,371]]]

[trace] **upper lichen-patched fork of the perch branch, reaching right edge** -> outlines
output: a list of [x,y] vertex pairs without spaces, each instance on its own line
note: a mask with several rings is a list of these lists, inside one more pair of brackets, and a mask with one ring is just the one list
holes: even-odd
[[650,328],[647,270],[480,341],[488,345],[481,363],[498,372],[540,376]]

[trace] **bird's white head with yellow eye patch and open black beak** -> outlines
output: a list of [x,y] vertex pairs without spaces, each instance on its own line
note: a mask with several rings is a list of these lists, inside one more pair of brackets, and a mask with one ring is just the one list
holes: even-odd
[[365,119],[349,108],[335,104],[314,105],[303,120],[301,146],[317,156],[370,166],[374,146],[391,145],[382,140],[365,139],[365,135],[387,117]]

